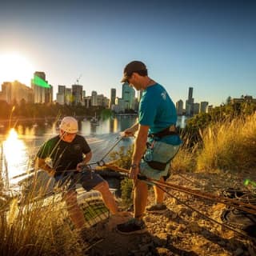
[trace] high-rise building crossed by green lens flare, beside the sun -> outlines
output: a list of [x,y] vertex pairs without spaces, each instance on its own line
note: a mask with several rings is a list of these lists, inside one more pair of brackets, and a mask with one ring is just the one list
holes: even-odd
[[[46,81],[46,74],[44,72],[34,72],[34,77],[41,78],[44,82]],[[31,88],[34,90],[34,103],[51,103],[53,101],[53,87],[49,85],[49,88],[39,86],[31,81]]]

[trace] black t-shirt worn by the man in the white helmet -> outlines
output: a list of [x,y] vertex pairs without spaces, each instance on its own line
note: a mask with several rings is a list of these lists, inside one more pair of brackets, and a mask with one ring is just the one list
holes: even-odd
[[57,175],[65,170],[75,170],[82,162],[83,154],[90,152],[86,139],[76,134],[72,142],[64,142],[59,136],[50,138],[38,151],[38,158],[50,158]]

